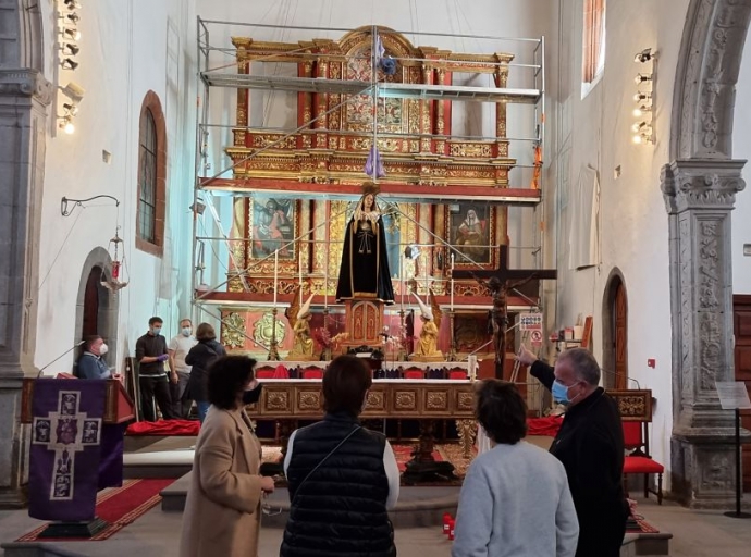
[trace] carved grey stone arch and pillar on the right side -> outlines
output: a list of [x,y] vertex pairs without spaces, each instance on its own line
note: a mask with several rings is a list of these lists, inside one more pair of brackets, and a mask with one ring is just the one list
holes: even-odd
[[668,213],[673,329],[672,491],[694,508],[729,508],[730,412],[715,381],[732,381],[730,211],[746,184],[732,159],[735,86],[751,0],[691,0],[674,86]]

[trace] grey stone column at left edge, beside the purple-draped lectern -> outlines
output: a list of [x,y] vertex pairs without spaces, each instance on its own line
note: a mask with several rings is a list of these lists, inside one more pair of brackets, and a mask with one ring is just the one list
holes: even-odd
[[23,505],[28,428],[21,385],[33,376],[47,104],[36,70],[0,70],[0,508]]

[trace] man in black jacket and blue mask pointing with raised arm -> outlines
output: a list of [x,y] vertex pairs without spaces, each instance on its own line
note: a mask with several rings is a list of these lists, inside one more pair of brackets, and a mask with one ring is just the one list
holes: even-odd
[[555,368],[525,346],[517,360],[566,406],[551,453],[566,469],[579,520],[576,557],[618,557],[626,534],[624,430],[615,400],[600,384],[600,366],[589,350],[561,352]]

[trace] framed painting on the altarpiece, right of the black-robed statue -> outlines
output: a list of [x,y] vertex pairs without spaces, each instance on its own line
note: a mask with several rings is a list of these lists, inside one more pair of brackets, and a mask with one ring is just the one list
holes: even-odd
[[494,239],[495,214],[484,202],[452,203],[446,211],[446,240],[456,248],[455,264],[475,267],[490,264]]

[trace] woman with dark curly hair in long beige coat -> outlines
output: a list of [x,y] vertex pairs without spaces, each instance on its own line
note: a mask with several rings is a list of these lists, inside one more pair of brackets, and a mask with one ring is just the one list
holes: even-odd
[[243,409],[256,360],[229,356],[209,371],[211,409],[204,421],[183,513],[182,557],[258,556],[261,498],[273,492],[258,475],[261,445]]

